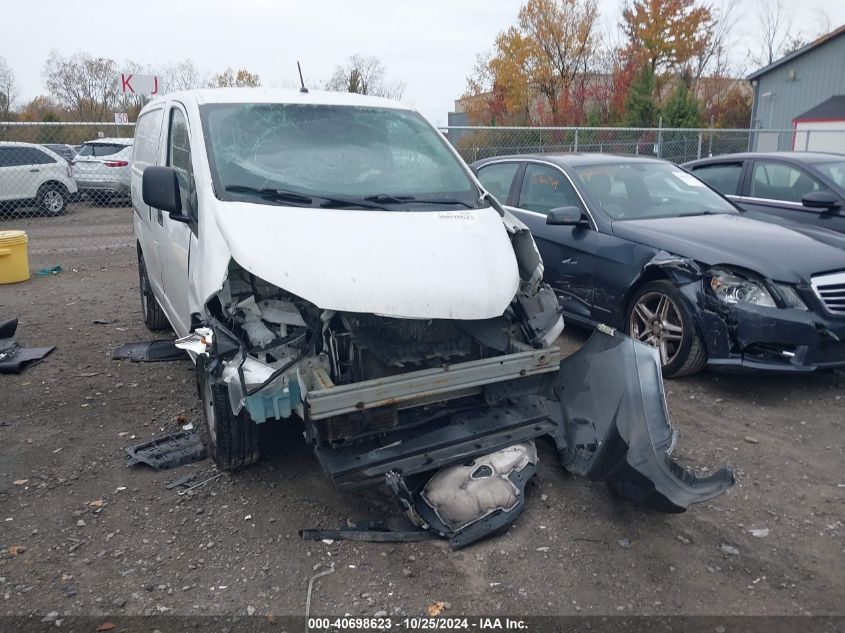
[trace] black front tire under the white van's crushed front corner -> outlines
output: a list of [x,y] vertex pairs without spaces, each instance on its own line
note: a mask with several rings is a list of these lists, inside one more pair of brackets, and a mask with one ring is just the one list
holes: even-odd
[[238,470],[257,462],[258,425],[245,408],[232,413],[228,387],[206,373],[203,357],[197,359],[197,387],[205,418],[200,437],[217,467]]

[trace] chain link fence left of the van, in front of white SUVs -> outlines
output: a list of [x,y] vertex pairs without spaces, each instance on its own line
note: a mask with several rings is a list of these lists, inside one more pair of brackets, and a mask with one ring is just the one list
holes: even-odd
[[26,232],[31,270],[132,262],[134,133],[132,124],[0,122],[0,231]]

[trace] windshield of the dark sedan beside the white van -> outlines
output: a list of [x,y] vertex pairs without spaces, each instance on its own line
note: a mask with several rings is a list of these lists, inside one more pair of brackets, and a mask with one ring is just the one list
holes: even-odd
[[575,171],[614,220],[737,212],[698,178],[668,163],[586,165]]

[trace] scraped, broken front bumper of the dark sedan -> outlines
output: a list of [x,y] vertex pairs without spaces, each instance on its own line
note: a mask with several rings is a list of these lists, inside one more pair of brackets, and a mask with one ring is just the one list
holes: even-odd
[[845,319],[709,303],[700,312],[700,326],[712,369],[809,373],[845,367]]

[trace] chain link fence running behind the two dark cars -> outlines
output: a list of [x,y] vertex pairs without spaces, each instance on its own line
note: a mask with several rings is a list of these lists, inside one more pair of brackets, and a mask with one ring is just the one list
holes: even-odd
[[444,127],[469,163],[505,154],[599,152],[656,156],[675,163],[747,151],[845,153],[845,130],[617,127]]

